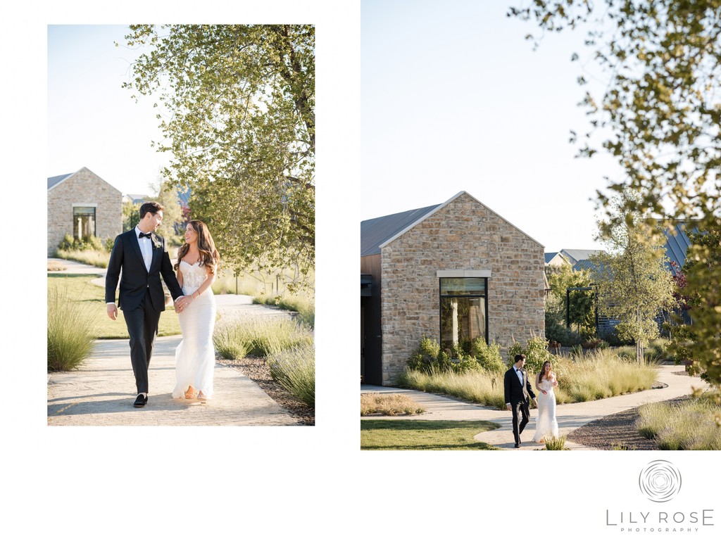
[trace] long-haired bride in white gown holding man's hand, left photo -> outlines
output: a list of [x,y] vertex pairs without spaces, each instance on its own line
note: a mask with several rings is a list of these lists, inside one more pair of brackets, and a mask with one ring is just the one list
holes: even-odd
[[185,244],[178,249],[174,269],[185,295],[179,303],[178,320],[182,341],[175,349],[175,388],[173,398],[213,396],[213,327],[216,299],[211,285],[216,278],[220,256],[208,227],[191,220],[185,228]]

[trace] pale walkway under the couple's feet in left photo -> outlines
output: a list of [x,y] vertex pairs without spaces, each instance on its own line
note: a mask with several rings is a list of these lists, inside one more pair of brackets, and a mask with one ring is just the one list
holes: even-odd
[[[78,262],[48,259],[67,267],[63,273],[98,275],[105,269]],[[56,272],[53,272],[56,273]],[[216,295],[221,320],[247,316],[289,316],[278,308],[252,305],[244,295]],[[119,324],[123,324],[120,319]],[[78,370],[48,374],[48,425],[295,425],[252,380],[232,367],[216,364],[213,398],[205,403],[172,398],[175,349],[180,335],[158,337],[149,369],[150,391],[144,408],[133,408],[135,377],[128,339],[103,339]]]

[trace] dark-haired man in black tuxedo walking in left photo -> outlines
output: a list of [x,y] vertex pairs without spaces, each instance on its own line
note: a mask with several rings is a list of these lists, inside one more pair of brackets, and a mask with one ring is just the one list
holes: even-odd
[[[105,276],[107,316],[115,320],[120,307],[131,337],[131,363],[138,389],[138,397],[133,403],[136,408],[142,408],[148,402],[148,366],[158,333],[160,313],[165,310],[160,276],[163,276],[176,306],[177,300],[182,297],[165,240],[155,233],[163,221],[163,210],[158,202],[141,205],[138,226],[115,238]],[[116,306],[115,289],[119,277],[120,297]]]

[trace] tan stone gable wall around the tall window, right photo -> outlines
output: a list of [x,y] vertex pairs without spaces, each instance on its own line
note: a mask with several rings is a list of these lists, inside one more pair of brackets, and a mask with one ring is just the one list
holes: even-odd
[[543,246],[464,192],[381,249],[384,386],[423,335],[440,340],[439,270],[490,270],[489,342],[544,335]]

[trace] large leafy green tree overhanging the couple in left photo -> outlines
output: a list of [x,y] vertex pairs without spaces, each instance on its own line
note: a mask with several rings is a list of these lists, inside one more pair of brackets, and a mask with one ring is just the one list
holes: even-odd
[[[158,96],[172,152],[226,267],[315,259],[315,33],[311,25],[131,25],[148,48],[125,84]],[[133,97],[138,99],[137,94]]]

